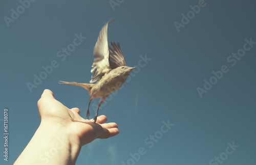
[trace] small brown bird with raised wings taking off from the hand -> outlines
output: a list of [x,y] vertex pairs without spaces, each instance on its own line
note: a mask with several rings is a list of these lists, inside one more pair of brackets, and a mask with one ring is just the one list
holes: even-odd
[[122,86],[123,82],[135,68],[126,66],[119,43],[111,42],[113,48],[108,45],[108,24],[113,21],[114,19],[109,20],[101,29],[93,51],[94,62],[91,70],[93,75],[90,83],[98,81],[95,84],[59,81],[60,84],[81,86],[88,90],[91,97],[86,114],[87,118],[90,116],[89,107],[92,99],[102,97],[98,104],[98,111],[94,117],[94,123],[97,120],[99,107],[102,102]]

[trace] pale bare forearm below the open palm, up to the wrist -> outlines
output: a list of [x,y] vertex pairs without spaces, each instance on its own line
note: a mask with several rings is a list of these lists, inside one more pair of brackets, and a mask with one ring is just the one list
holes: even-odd
[[78,141],[62,125],[42,122],[14,164],[75,164]]

